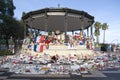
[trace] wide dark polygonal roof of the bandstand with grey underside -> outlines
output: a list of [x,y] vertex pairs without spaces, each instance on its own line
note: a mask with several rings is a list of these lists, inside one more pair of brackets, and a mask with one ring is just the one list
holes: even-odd
[[22,19],[27,26],[43,31],[75,31],[86,29],[94,23],[94,17],[87,12],[69,8],[31,11]]

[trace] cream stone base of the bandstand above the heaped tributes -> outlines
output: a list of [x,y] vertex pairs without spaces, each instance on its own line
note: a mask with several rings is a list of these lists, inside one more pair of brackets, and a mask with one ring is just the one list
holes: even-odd
[[[39,49],[39,48],[38,48]],[[25,52],[26,53],[26,52]],[[32,50],[28,50],[27,53],[32,53],[33,55],[44,55],[44,53],[49,55],[65,55],[68,56],[69,54],[77,54],[77,55],[93,55],[92,50],[86,49],[84,45],[76,46],[75,48],[68,48],[66,45],[50,45],[49,49],[46,49],[44,46],[43,52],[34,52]]]

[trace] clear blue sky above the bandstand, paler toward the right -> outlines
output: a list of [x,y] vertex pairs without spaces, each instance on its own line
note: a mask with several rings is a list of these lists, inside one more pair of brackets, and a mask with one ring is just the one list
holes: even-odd
[[[21,19],[22,12],[30,12],[43,8],[60,7],[85,11],[94,16],[95,21],[107,23],[106,43],[120,43],[120,0],[13,0],[16,7],[14,17]],[[96,38],[96,37],[95,37]],[[103,42],[103,31],[99,37]]]

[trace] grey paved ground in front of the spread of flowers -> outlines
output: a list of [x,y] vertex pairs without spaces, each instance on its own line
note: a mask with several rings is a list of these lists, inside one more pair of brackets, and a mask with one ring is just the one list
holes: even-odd
[[0,69],[0,80],[120,80],[120,69],[91,71],[90,74],[80,75],[31,75],[15,74],[8,69]]

